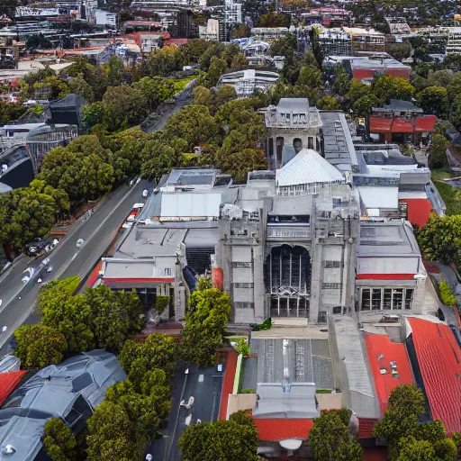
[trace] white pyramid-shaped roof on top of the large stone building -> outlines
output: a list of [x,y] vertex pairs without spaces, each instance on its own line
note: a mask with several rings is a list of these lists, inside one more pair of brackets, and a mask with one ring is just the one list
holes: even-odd
[[285,167],[276,170],[276,185],[335,183],[344,176],[315,150],[302,149]]

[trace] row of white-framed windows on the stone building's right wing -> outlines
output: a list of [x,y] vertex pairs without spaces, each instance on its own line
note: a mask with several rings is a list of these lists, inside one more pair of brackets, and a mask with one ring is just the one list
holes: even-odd
[[412,288],[362,288],[361,311],[411,309]]

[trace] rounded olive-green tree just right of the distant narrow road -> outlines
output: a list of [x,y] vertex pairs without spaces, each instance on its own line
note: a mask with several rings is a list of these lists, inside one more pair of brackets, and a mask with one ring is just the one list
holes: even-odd
[[208,107],[185,105],[179,112],[169,117],[163,134],[166,139],[181,138],[187,142],[188,149],[194,149],[194,146],[216,136],[217,129]]

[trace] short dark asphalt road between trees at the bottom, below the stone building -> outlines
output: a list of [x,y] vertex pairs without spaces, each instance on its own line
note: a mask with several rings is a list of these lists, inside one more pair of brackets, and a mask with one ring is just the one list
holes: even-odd
[[[192,415],[192,424],[195,424],[197,419],[203,422],[218,420],[222,375],[215,366],[197,368],[178,363],[171,392],[173,402],[167,428],[160,430],[163,437],[154,440],[150,449],[155,461],[181,461],[177,439],[185,430],[185,419],[189,415]],[[179,405],[182,400],[187,403],[191,396],[194,397],[194,404],[190,410]]]

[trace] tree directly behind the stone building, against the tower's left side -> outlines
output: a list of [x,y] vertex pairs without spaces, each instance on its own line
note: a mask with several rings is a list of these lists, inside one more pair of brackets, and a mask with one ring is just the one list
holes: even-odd
[[236,183],[246,182],[250,171],[267,169],[267,158],[261,149],[242,149],[232,154],[219,151],[217,162],[222,173],[232,176]]

